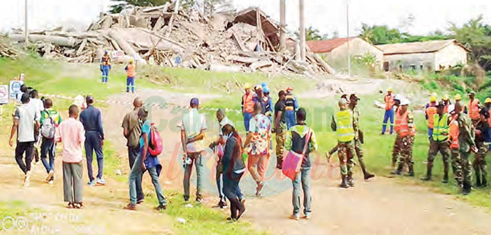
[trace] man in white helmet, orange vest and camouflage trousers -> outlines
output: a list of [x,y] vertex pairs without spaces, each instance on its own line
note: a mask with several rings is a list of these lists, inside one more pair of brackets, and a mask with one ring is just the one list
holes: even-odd
[[413,121],[413,114],[408,110],[409,101],[402,100],[400,108],[395,113],[394,130],[400,136],[400,160],[397,170],[392,172],[393,175],[400,175],[403,172],[404,164],[408,166],[408,176],[414,176],[413,162],[413,144],[414,136],[416,135],[416,126]]

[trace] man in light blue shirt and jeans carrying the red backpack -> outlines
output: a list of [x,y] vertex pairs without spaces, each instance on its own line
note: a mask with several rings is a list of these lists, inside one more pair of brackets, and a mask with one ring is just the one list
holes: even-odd
[[137,209],[137,182],[142,180],[142,175],[148,170],[148,174],[152,178],[152,184],[157,194],[157,200],[159,205],[155,207],[155,210],[165,210],[167,208],[167,201],[162,191],[162,186],[159,182],[159,176],[162,171],[162,165],[160,164],[158,156],[153,156],[149,152],[150,132],[152,121],[148,118],[148,107],[142,107],[138,110],[138,118],[143,122],[142,137],[140,138],[140,155],[135,159],[135,164],[131,168],[129,174],[129,204],[125,209],[136,210]]

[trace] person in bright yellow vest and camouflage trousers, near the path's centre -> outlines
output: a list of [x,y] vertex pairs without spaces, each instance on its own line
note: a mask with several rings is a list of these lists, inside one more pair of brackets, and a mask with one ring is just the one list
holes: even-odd
[[353,181],[353,155],[354,155],[354,129],[353,113],[348,109],[346,99],[340,99],[338,102],[339,111],[336,117],[332,116],[331,128],[336,131],[338,138],[338,157],[341,169],[342,181],[340,187],[347,188],[354,186]]

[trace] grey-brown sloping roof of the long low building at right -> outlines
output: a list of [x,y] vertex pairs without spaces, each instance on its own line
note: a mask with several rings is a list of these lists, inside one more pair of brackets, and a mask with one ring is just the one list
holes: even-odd
[[384,55],[396,55],[437,52],[452,43],[455,43],[456,45],[461,46],[466,51],[469,51],[467,48],[465,48],[464,45],[462,45],[455,39],[385,44],[377,45],[377,47],[384,51]]

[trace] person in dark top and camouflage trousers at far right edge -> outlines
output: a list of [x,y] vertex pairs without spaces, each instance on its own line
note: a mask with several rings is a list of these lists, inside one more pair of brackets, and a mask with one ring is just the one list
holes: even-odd
[[486,169],[486,154],[489,150],[489,142],[491,142],[491,136],[489,135],[489,111],[487,108],[482,108],[479,112],[480,120],[476,124],[476,146],[478,152],[475,154],[472,166],[476,172],[476,187],[487,186],[487,169]]

